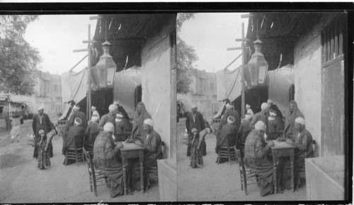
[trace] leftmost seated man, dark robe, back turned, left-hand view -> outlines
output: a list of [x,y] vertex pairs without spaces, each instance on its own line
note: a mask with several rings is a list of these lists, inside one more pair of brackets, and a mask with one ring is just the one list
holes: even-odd
[[[82,146],[84,145],[85,130],[84,130],[84,128],[82,128],[80,126],[81,123],[82,123],[81,118],[75,118],[74,126],[71,126],[69,128],[69,131],[67,132],[67,138],[65,138],[64,146],[62,148],[63,155],[65,155],[67,148],[75,148],[75,140],[74,140],[75,135],[79,136],[79,138],[76,138],[76,140],[77,140],[76,141],[76,148],[82,148]],[[67,165],[70,165],[74,162],[75,162],[75,160],[67,160]],[[64,161],[64,163],[65,163],[65,161]]]

